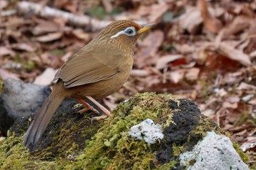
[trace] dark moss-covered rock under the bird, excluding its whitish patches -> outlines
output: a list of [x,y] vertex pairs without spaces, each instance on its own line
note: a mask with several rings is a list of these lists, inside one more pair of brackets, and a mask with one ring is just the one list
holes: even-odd
[[[107,120],[94,123],[95,115],[78,115],[74,104],[58,109],[34,153],[22,143],[29,121],[17,120],[0,143],[0,169],[185,169],[178,161],[181,152],[207,131],[225,134],[192,101],[171,95],[138,93],[118,104]],[[164,134],[151,145],[128,135],[148,118]]]

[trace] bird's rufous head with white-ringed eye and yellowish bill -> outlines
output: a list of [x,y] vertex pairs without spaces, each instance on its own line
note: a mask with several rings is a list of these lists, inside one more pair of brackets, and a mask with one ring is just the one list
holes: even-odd
[[139,25],[129,20],[117,20],[100,31],[97,36],[121,48],[134,48],[140,34],[155,26],[154,23]]

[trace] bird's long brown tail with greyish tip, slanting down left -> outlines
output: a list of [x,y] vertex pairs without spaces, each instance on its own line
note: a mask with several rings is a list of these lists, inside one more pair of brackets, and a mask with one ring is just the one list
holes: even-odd
[[39,112],[37,112],[37,115],[34,117],[28,131],[26,131],[23,144],[24,147],[29,147],[30,152],[34,152],[36,149],[39,139],[42,137],[45,128],[50,122],[50,118],[53,117],[53,114],[56,112],[56,109],[58,109],[61,101],[66,97],[62,83],[63,82],[59,82],[53,87],[50,96],[46,99],[41,109],[39,109]]

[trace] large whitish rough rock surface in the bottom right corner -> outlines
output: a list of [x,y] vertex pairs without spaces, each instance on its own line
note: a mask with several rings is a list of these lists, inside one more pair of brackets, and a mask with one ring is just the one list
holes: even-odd
[[[187,166],[188,170],[249,170],[234,149],[230,139],[214,131],[208,131],[192,151],[182,153],[180,160],[181,165]],[[190,165],[192,161],[195,163]]]

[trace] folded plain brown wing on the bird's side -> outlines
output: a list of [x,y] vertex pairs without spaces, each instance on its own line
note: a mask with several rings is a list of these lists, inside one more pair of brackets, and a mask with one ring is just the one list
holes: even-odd
[[119,54],[113,54],[109,49],[104,49],[105,47],[101,47],[98,51],[80,50],[61,66],[54,80],[61,79],[65,88],[72,88],[114,77],[118,73],[118,66],[113,66],[109,60],[119,57]]

